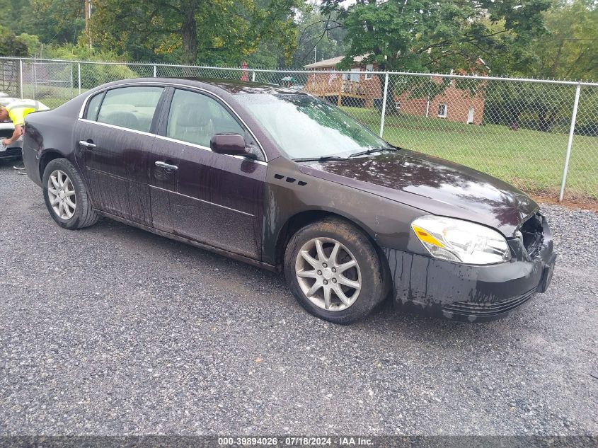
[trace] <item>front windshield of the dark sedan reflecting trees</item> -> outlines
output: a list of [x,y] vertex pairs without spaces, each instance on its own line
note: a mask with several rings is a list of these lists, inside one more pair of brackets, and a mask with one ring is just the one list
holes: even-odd
[[241,94],[236,99],[291,159],[391,148],[342,110],[313,96]]

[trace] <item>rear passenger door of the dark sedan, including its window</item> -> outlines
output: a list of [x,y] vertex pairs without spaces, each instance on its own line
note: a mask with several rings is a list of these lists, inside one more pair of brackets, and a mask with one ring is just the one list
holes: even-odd
[[147,158],[155,144],[162,86],[126,86],[88,101],[74,137],[93,206],[151,226]]

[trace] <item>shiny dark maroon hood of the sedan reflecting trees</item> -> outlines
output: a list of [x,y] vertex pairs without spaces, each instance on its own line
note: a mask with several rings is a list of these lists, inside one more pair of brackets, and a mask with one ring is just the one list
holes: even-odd
[[406,149],[308,163],[299,169],[431,214],[485,224],[505,236],[514,236],[539,209],[529,196],[502,180]]

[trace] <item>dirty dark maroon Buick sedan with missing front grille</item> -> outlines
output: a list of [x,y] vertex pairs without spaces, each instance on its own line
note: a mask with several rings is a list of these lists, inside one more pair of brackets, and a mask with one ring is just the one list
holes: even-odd
[[23,159],[65,229],[100,215],[284,272],[311,314],[386,297],[461,321],[546,291],[539,207],[501,180],[394,147],[293,88],[134,79],[28,115]]

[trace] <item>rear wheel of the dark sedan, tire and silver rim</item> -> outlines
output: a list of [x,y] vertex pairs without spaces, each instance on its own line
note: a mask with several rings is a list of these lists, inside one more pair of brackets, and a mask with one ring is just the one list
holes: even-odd
[[52,219],[62,228],[83,229],[98,222],[100,216],[91,208],[89,195],[79,171],[67,159],[54,159],[47,164],[42,185],[46,208]]

